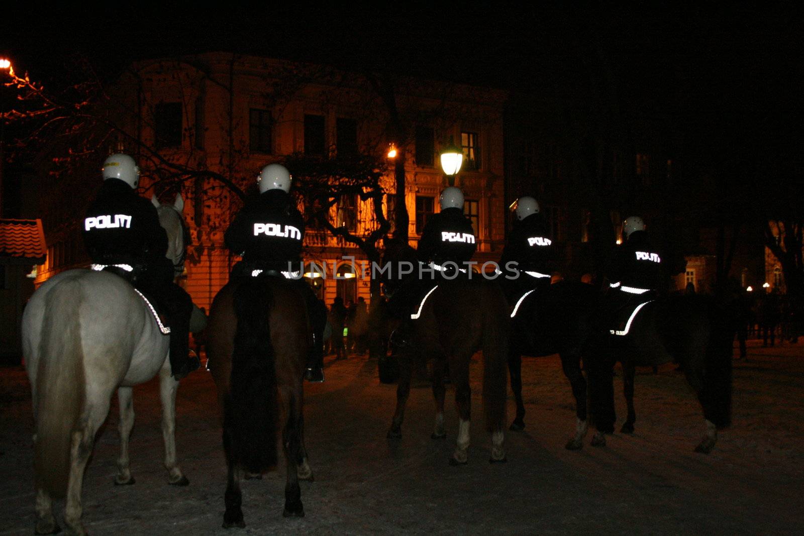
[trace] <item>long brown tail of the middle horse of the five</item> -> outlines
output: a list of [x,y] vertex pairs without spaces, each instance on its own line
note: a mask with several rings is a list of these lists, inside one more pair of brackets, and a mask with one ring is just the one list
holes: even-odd
[[483,412],[486,430],[499,432],[505,425],[508,397],[508,306],[503,293],[490,292],[483,309]]

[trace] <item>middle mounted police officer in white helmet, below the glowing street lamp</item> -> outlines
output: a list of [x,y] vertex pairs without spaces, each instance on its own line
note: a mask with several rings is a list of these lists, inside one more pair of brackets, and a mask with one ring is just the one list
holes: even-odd
[[433,280],[470,277],[467,263],[478,248],[472,222],[463,214],[463,192],[449,186],[441,192],[438,203],[441,211],[430,216],[416,248],[421,264],[414,272],[418,277],[400,289],[401,297],[395,297],[394,301],[401,303],[392,304],[392,309],[402,310],[402,323],[391,336],[392,345],[400,348],[412,345],[411,313],[436,284]]

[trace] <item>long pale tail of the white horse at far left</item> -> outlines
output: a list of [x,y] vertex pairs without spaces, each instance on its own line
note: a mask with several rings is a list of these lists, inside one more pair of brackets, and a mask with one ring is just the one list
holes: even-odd
[[72,432],[79,425],[86,398],[80,319],[80,283],[65,279],[45,297],[39,363],[36,371],[36,486],[51,497],[64,497],[70,474]]

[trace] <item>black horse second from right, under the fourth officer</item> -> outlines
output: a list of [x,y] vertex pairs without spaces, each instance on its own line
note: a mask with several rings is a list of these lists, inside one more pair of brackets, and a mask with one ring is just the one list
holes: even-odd
[[[520,274],[527,277],[526,274]],[[500,279],[503,287],[515,283]],[[597,290],[591,284],[562,280],[532,292],[519,287],[507,288],[511,305],[511,343],[508,370],[511,390],[516,399],[516,417],[511,430],[525,428],[525,405],[522,399],[522,356],[541,357],[559,354],[561,368],[572,386],[576,402],[575,435],[566,448],[583,446],[589,429],[587,421],[586,379],[581,372],[581,354],[591,333],[590,319],[595,310]]]

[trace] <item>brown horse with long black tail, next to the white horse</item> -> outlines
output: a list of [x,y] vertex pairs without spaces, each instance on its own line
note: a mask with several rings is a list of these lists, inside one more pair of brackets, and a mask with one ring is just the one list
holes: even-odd
[[228,465],[224,527],[245,526],[240,477],[277,464],[279,425],[287,468],[283,514],[304,516],[298,481],[313,480],[301,411],[311,342],[304,297],[281,277],[230,282],[212,302],[207,329]]

